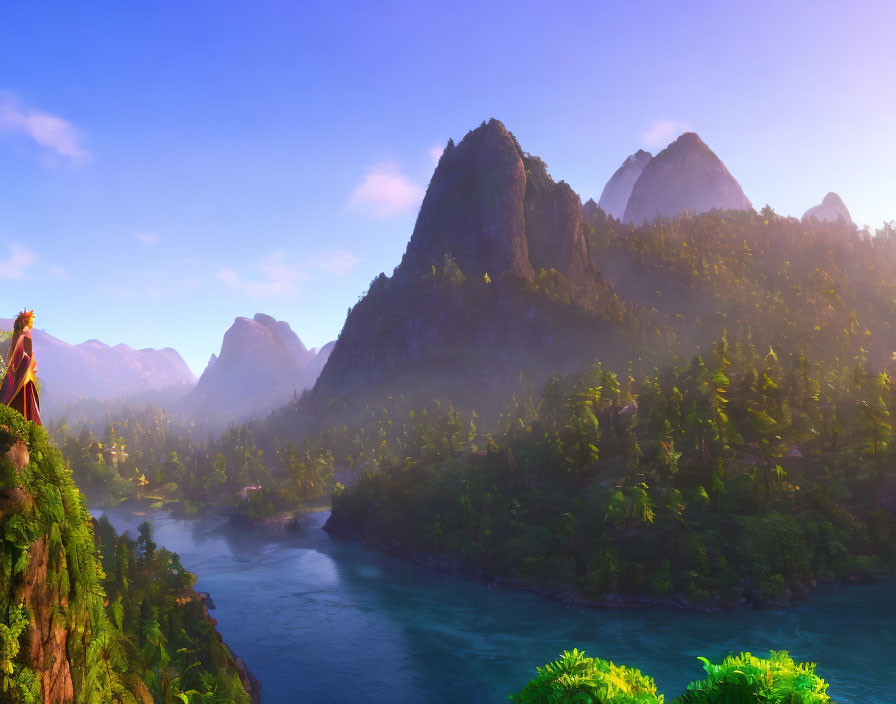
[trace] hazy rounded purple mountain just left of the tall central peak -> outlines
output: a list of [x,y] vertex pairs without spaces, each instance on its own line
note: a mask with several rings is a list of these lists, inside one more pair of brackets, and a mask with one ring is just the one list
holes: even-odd
[[263,313],[237,318],[177,407],[219,420],[271,411],[314,385],[332,348],[307,349],[289,323]]

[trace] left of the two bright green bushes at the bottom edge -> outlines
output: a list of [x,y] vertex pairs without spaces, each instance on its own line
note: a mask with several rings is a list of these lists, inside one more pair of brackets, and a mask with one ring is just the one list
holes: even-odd
[[614,665],[584,652],[567,650],[556,662],[537,668],[511,701],[517,704],[662,704],[663,695],[640,670]]

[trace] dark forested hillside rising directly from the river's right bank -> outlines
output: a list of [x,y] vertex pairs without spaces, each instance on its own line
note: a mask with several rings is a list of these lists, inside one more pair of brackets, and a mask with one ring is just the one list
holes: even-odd
[[896,571],[894,411],[860,361],[748,342],[639,379],[598,365],[495,435],[447,414],[385,441],[328,529],[582,603],[784,603]]

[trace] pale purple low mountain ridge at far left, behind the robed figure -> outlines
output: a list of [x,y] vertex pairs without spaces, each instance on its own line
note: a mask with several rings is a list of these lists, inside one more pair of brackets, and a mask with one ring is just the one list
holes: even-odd
[[[12,320],[0,319],[0,329],[11,330],[12,325]],[[135,350],[99,340],[71,345],[43,330],[34,330],[32,339],[44,409],[82,398],[115,399],[175,387],[186,392],[196,383],[187,363],[170,347]]]

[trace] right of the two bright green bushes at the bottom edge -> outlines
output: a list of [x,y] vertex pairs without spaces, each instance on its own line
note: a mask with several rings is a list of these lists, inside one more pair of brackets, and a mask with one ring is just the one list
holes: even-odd
[[674,704],[827,704],[828,685],[815,663],[795,663],[785,651],[769,658],[731,655],[713,665],[700,658],[706,679],[692,682]]

